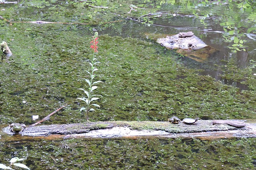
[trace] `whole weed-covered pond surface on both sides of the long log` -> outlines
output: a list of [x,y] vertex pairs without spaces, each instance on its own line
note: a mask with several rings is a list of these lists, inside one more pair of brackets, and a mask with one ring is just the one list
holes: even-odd
[[[42,119],[63,105],[65,109],[44,124],[85,122],[84,112],[79,112],[84,103],[76,98],[84,95],[78,88],[87,85],[83,79],[88,77],[89,42],[95,30],[99,32],[96,58],[101,63],[97,80],[103,83],[95,91],[102,95],[96,101],[100,109],[89,113],[90,121],[166,121],[172,115],[256,119],[256,13],[255,5],[246,3],[246,8],[225,1],[1,4],[0,36],[13,55],[0,61],[0,123],[30,125],[37,121],[32,115]],[[216,51],[207,58],[191,58],[156,42],[186,31],[193,31]],[[56,140],[1,135],[0,163],[24,157],[31,169],[256,166],[254,138]]]

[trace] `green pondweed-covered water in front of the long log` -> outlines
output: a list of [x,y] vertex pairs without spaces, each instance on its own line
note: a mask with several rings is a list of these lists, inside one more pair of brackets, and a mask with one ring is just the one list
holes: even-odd
[[[0,143],[7,157],[27,156],[31,169],[253,169],[254,139],[201,141],[136,138]],[[20,148],[23,146],[23,149]],[[19,152],[17,152],[19,151]],[[8,159],[1,159],[7,163]],[[38,167],[40,165],[40,167]]]

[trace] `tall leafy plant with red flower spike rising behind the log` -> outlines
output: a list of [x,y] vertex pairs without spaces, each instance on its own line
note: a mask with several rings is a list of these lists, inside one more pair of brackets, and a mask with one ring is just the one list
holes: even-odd
[[[92,101],[97,100],[99,98],[97,98],[96,96],[101,96],[101,95],[92,95],[92,92],[98,88],[97,86],[93,86],[99,82],[102,81],[93,81],[93,79],[95,77],[99,77],[99,75],[95,75],[94,72],[97,71],[98,69],[95,67],[97,64],[99,64],[100,62],[96,61],[97,59],[95,58],[96,53],[98,52],[98,47],[97,47],[97,43],[98,43],[98,32],[95,32],[94,36],[93,36],[93,40],[90,42],[92,45],[90,48],[92,48],[93,51],[93,55],[92,55],[92,60],[89,60],[89,64],[91,65],[91,72],[86,71],[89,75],[90,75],[90,79],[83,79],[85,80],[89,87],[88,90],[84,90],[83,88],[79,88],[79,90],[83,90],[84,93],[86,94],[86,97],[83,98],[77,98],[80,99],[82,101],[84,101],[86,103],[85,107],[82,107],[80,109],[80,111],[86,110],[86,120],[89,120],[88,114],[90,111],[95,111],[93,108],[90,108],[91,106],[96,106],[96,107],[100,107],[98,104],[91,104]],[[102,96],[101,96],[102,97]]]

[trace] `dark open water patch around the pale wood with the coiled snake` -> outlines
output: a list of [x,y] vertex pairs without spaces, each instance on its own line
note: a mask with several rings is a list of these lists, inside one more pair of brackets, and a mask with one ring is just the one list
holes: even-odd
[[[202,18],[196,15],[185,15],[188,11],[182,11],[185,14],[175,17],[170,14],[170,11],[162,12],[163,15],[160,18],[155,18],[154,24],[150,27],[142,23],[136,24],[136,21],[130,20],[126,21],[126,24],[123,26],[122,34],[113,32],[110,28],[104,30],[103,33],[113,33],[113,35],[115,34],[122,37],[134,37],[145,40],[148,38],[151,42],[155,43],[155,40],[159,37],[178,34],[178,32],[181,31],[186,32],[192,30],[196,36],[201,38],[210,47],[216,49],[217,52],[212,53],[207,60],[203,59],[203,61],[199,60],[199,62],[183,58],[183,63],[189,68],[203,69],[204,72],[200,72],[201,75],[211,75],[216,80],[221,80],[225,84],[238,87],[240,90],[248,89],[247,85],[241,84],[243,79],[240,81],[234,81],[222,78],[220,76],[222,74],[221,66],[225,66],[230,59],[235,58],[236,63],[234,64],[237,65],[237,68],[244,69],[248,66],[251,59],[255,60],[254,50],[244,48],[245,51],[242,49],[241,51],[237,51],[237,53],[232,53],[230,48],[228,48],[230,46],[232,47],[232,45],[225,41],[225,38],[223,37],[223,27],[220,26],[217,18],[206,17],[202,20]],[[222,12],[223,11],[219,11],[220,16],[222,15]],[[207,11],[207,13],[209,13],[209,11]],[[235,15],[237,15],[237,13]],[[246,32],[246,28],[242,31]],[[246,41],[246,44],[256,45],[256,42],[251,38],[247,38]]]

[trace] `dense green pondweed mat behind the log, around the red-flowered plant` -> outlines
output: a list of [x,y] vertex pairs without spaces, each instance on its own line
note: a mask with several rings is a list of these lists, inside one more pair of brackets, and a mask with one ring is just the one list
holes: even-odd
[[[50,25],[42,27],[47,29]],[[2,123],[11,123],[11,112],[17,122],[32,124],[32,115],[44,117],[60,105],[67,106],[65,111],[49,123],[84,121],[76,98],[81,93],[77,89],[84,87],[79,80],[86,75],[86,60],[91,53],[85,42],[90,37],[66,31],[44,34],[49,38],[42,39],[42,33],[32,39],[17,33],[13,46],[21,39],[32,40],[36,45],[27,46],[34,55],[23,48],[25,43],[19,49],[13,48],[14,55],[0,63]],[[64,38],[68,40],[58,43]],[[98,93],[103,98],[99,101],[101,109],[90,115],[91,121],[167,120],[173,114],[201,119],[256,117],[254,89],[240,93],[238,88],[198,75],[198,71],[175,63],[172,51],[152,42],[107,35],[100,38],[99,74],[104,83]],[[131,44],[136,45],[131,48]],[[248,72],[249,85],[255,81],[250,75]]]

